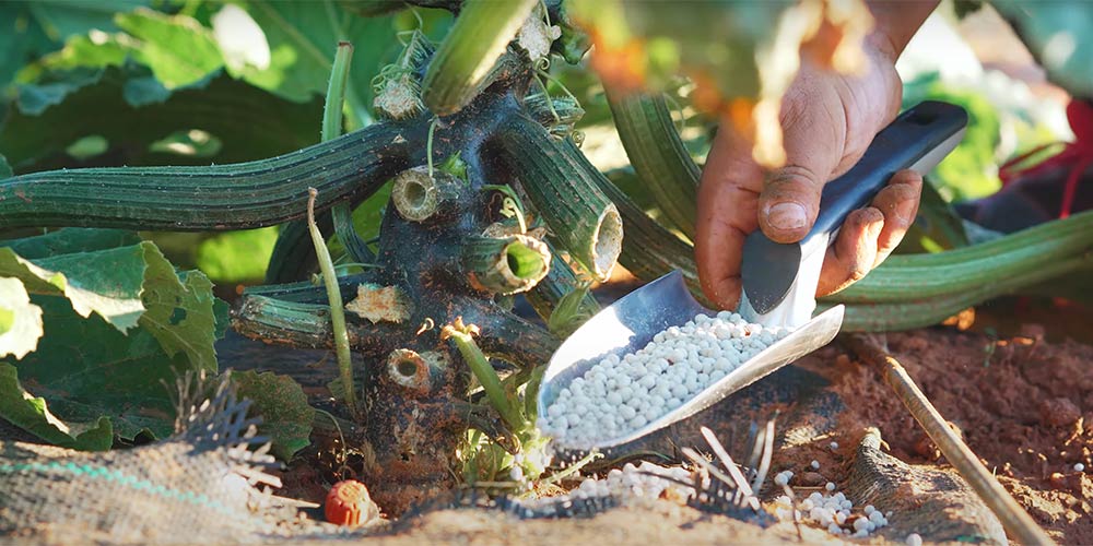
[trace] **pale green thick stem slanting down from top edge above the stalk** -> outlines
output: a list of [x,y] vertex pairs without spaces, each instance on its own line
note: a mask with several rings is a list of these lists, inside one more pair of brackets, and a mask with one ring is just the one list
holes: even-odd
[[425,106],[437,116],[449,116],[467,106],[537,3],[466,0],[425,71]]

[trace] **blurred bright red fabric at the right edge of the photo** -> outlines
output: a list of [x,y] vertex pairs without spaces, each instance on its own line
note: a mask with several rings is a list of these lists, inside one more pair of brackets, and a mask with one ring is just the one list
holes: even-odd
[[[1081,180],[1082,173],[1085,173],[1085,169],[1093,165],[1093,104],[1082,99],[1071,99],[1070,104],[1067,105],[1067,119],[1070,121],[1070,129],[1074,132],[1073,142],[1053,142],[1037,146],[1031,152],[1006,162],[998,169],[1002,186],[1006,186],[1022,176],[1035,176],[1057,167],[1069,167],[1070,175],[1067,177],[1067,185],[1062,190],[1062,204],[1059,207],[1060,218],[1070,216],[1070,209],[1073,206],[1074,195],[1078,193],[1078,181]],[[1065,147],[1058,154],[1032,167],[1021,168],[1021,165],[1029,157],[1060,144],[1065,144]]]

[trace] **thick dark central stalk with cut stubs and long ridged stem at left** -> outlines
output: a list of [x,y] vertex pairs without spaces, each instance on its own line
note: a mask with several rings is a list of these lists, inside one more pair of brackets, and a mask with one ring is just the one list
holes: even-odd
[[[451,486],[469,425],[504,428],[468,405],[471,373],[443,327],[475,327],[481,351],[526,379],[557,340],[513,313],[510,296],[533,294],[549,317],[580,283],[563,256],[583,276],[604,280],[622,248],[622,217],[601,190],[606,181],[568,136],[581,110],[534,85],[546,51],[517,36],[556,35],[546,21],[561,19],[557,4],[551,13],[533,1],[494,7],[463,2],[437,47],[421,34],[407,39],[375,82],[377,123],[246,163],[15,176],[0,182],[0,229],[221,232],[287,223],[269,268],[279,282],[244,293],[232,324],[269,343],[332,347],[327,290],[305,274],[315,250],[298,221],[313,200],[324,236],[337,233],[366,264],[337,278],[343,300],[333,304],[344,307],[357,366],[331,390],[351,402],[360,389],[361,473],[398,512]],[[373,252],[355,240],[348,211],[388,180],[391,201]],[[591,306],[585,296],[567,307],[587,316]]]

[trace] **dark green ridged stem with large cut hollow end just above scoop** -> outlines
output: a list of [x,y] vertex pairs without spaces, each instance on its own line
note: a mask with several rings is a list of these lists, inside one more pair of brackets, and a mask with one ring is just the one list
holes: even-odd
[[495,142],[520,174],[521,187],[559,246],[593,277],[606,280],[622,251],[623,223],[598,188],[603,175],[572,141],[551,138],[525,117],[514,118]]

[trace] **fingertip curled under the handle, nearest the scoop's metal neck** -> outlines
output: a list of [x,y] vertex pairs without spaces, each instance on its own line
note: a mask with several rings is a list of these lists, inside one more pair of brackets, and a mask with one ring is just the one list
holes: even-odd
[[884,215],[869,206],[846,216],[835,244],[827,249],[816,297],[834,294],[860,281],[877,261],[877,238],[884,227]]

